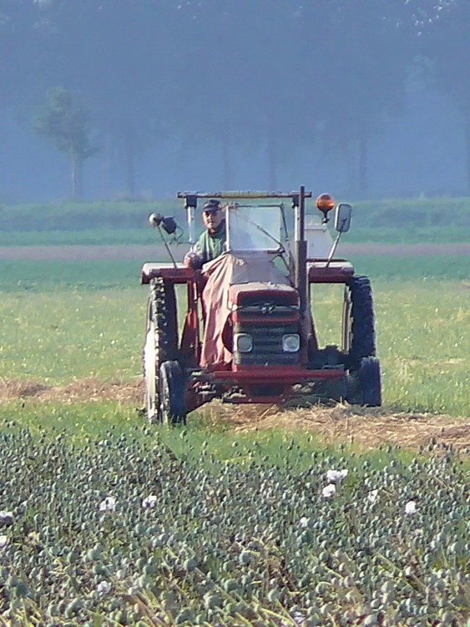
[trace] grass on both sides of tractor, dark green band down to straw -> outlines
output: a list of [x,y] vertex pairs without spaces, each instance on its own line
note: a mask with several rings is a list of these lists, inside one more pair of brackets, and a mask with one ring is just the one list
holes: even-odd
[[[468,415],[469,295],[460,258],[357,258],[373,279],[384,403]],[[127,261],[3,263],[0,377],[56,385],[141,376],[146,288]],[[342,290],[315,301],[322,345],[339,343]]]

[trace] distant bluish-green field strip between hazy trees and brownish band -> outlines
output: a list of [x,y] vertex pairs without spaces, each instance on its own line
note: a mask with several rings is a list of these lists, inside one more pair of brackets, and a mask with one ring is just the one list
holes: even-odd
[[[345,199],[340,199],[345,200]],[[467,242],[470,199],[383,199],[352,201],[349,242]],[[185,226],[177,200],[153,202],[30,203],[0,206],[0,246],[8,245],[150,245],[157,233],[148,215],[174,215]],[[309,215],[319,216],[313,203]]]

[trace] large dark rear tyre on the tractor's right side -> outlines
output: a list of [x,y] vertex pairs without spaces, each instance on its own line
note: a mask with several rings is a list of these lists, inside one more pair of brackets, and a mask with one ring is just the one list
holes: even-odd
[[374,302],[368,277],[352,277],[345,290],[343,350],[349,353],[351,370],[359,369],[363,357],[375,356]]

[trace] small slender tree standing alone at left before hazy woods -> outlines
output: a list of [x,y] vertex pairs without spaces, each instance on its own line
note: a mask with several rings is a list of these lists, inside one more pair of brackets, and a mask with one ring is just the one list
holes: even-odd
[[70,156],[72,199],[81,197],[83,162],[97,152],[90,137],[90,123],[90,111],[77,106],[72,93],[63,87],[49,89],[45,109],[33,119],[33,130]]

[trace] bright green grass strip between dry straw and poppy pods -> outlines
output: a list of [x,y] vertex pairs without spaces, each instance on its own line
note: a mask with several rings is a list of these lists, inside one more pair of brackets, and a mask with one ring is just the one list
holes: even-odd
[[112,441],[125,437],[136,442],[142,452],[162,444],[170,454],[189,463],[205,458],[205,467],[212,460],[225,460],[246,467],[251,463],[275,465],[293,474],[311,467],[315,453],[331,455],[331,465],[347,463],[360,470],[364,460],[373,470],[381,470],[391,459],[411,463],[416,453],[385,445],[379,449],[361,450],[350,444],[325,446],[315,434],[297,429],[235,433],[223,420],[194,414],[182,429],[148,426],[146,418],[129,405],[114,401],[93,403],[57,401],[10,401],[0,405],[0,431],[11,433],[27,429],[33,436],[47,434],[55,440],[59,434],[70,444],[86,446],[88,441]]

